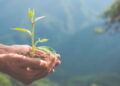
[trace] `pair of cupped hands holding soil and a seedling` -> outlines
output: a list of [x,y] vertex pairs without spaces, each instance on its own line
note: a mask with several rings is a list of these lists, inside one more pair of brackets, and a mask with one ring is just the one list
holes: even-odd
[[48,57],[45,60],[18,54],[31,51],[32,48],[28,45],[0,45],[0,71],[24,84],[31,84],[33,81],[54,72],[54,67],[60,64],[58,60],[60,55],[58,54],[56,55],[57,58],[54,58],[43,51],[36,50],[35,53]]

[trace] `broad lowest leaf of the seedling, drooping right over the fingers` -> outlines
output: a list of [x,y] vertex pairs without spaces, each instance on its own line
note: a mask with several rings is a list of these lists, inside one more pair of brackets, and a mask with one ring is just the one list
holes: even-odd
[[56,58],[56,52],[53,48],[51,47],[48,47],[48,46],[40,46],[40,47],[37,47],[39,50],[42,50],[48,54],[50,54],[51,56],[55,57]]

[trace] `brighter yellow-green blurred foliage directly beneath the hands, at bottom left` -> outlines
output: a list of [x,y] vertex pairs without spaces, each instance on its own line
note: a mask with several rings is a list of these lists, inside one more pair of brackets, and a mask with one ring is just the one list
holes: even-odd
[[[26,86],[26,85],[22,84],[21,82],[13,78],[8,77],[7,75],[0,73],[0,86]],[[46,78],[38,80],[29,86],[59,86],[59,85],[58,83],[52,82],[51,80]]]

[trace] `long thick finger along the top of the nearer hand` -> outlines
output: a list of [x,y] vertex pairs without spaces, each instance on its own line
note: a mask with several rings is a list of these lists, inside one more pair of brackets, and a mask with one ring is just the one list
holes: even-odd
[[7,60],[16,63],[22,67],[31,67],[33,69],[46,68],[47,62],[40,60],[40,58],[30,58],[18,54],[8,54]]

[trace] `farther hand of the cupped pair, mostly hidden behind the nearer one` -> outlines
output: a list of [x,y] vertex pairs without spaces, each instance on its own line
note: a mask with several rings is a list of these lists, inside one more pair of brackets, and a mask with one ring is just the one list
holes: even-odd
[[[31,52],[31,51],[32,51],[32,48],[29,45],[6,46],[6,45],[0,44],[0,54],[9,54],[9,53],[14,53],[14,54],[23,53],[23,54],[25,54],[25,53],[28,53],[28,52]],[[46,54],[45,52],[40,51],[40,50],[36,50],[35,52],[38,53],[38,54]],[[58,59],[60,59],[59,54],[57,54],[56,57]],[[60,61],[57,60],[55,66],[57,66],[59,64],[60,64]],[[54,70],[52,70],[52,71],[54,71]]]

